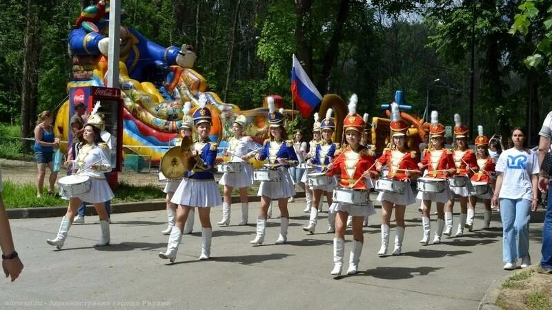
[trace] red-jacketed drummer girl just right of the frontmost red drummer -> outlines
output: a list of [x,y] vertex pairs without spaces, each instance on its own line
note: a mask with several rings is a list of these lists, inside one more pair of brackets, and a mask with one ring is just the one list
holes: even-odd
[[402,183],[404,192],[380,192],[377,195],[377,200],[382,202],[382,247],[377,252],[380,256],[387,255],[389,223],[393,207],[395,207],[395,220],[397,221],[393,255],[401,254],[404,238],[404,211],[406,205],[416,202],[410,186],[410,178],[420,172],[417,166],[417,154],[415,151],[408,149],[406,143],[406,131],[410,125],[401,118],[396,103],[391,103],[391,120],[389,124],[389,127],[391,127],[391,147],[384,149],[384,153],[377,159],[375,167],[378,172],[381,172],[384,165],[387,165],[389,173],[386,178],[393,180],[392,182]]

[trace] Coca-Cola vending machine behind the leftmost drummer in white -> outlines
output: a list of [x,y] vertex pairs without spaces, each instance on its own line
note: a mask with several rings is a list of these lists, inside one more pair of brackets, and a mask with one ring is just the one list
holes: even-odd
[[[121,171],[121,162],[123,158],[123,100],[121,99],[121,90],[110,87],[72,87],[69,89],[69,122],[68,122],[68,145],[73,145],[73,134],[71,130],[71,118],[75,115],[76,109],[81,103],[86,105],[86,114],[82,116],[84,123],[88,120],[88,115],[97,103],[99,103],[98,112],[103,114],[105,129],[101,132],[104,141],[110,137],[111,167],[113,172]],[[77,141],[75,141],[77,142]],[[69,152],[71,154],[71,151]],[[117,174],[112,174],[117,182]],[[113,180],[109,180],[112,184]]]

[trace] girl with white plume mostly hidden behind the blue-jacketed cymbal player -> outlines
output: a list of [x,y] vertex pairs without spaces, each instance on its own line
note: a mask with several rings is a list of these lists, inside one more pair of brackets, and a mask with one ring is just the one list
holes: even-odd
[[[192,107],[192,103],[190,101],[187,101],[184,103],[184,116],[182,117],[182,123],[179,128],[179,132],[177,134],[177,138],[175,138],[175,146],[180,146],[182,143],[182,139],[185,136],[189,136],[191,138],[192,136],[192,128],[193,128],[193,121],[192,117],[188,114],[190,114],[190,109]],[[162,172],[159,172],[159,174],[163,174]],[[171,203],[170,200],[172,199],[172,195],[175,194],[175,191],[177,190],[178,185],[180,184],[181,179],[172,179],[168,178],[167,183],[165,185],[165,188],[163,189],[163,192],[167,194],[166,196],[166,203],[167,203],[167,229],[164,231],[161,231],[161,234],[168,235],[170,234],[170,231],[172,230],[172,227],[175,226],[176,221],[176,215],[177,215],[177,205],[175,203]],[[193,210],[190,211],[190,214],[188,214],[188,220],[186,220],[186,225],[184,226],[184,234],[190,234],[193,230],[194,226],[194,214],[195,212]]]

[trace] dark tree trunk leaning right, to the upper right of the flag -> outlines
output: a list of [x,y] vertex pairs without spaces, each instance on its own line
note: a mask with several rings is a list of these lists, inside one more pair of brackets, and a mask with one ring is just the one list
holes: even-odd
[[324,54],[324,62],[322,63],[322,72],[320,74],[317,87],[318,90],[324,94],[326,92],[326,85],[330,77],[330,72],[333,68],[335,60],[337,59],[337,52],[339,51],[339,43],[343,39],[343,25],[347,20],[349,11],[350,0],[342,0],[339,2],[339,8],[337,10],[337,21],[335,21],[335,28],[328,44],[328,49]]

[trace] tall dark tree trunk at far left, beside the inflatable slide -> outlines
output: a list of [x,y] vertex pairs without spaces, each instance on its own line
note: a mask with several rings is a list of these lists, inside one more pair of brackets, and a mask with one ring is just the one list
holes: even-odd
[[[23,83],[21,85],[21,137],[28,138],[34,130],[34,116],[38,97],[38,44],[37,3],[27,0],[27,26],[23,46]],[[30,152],[30,143],[23,143]]]

